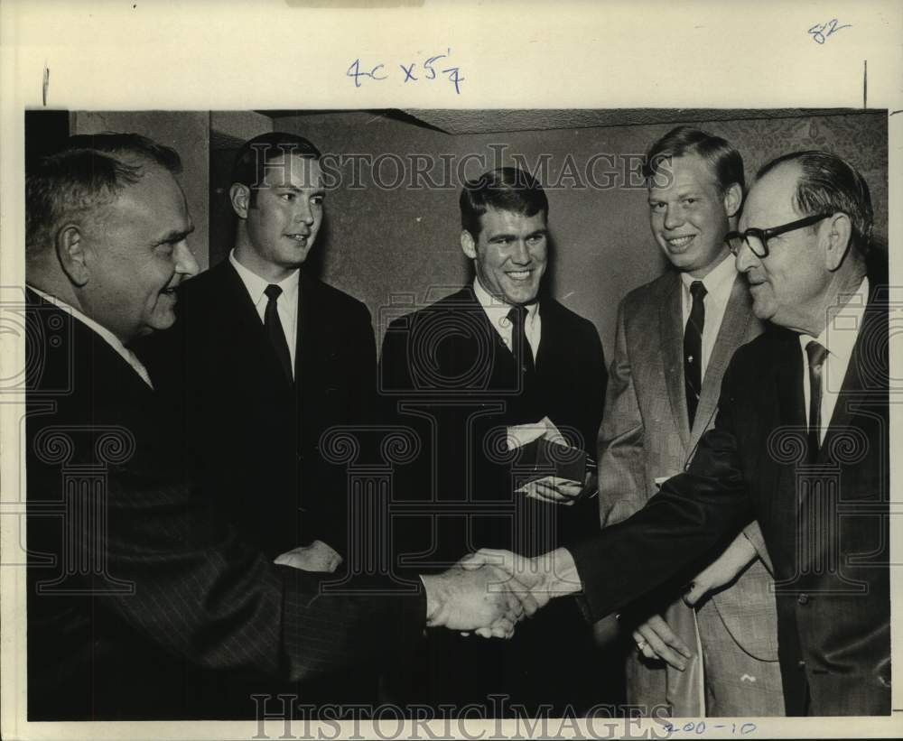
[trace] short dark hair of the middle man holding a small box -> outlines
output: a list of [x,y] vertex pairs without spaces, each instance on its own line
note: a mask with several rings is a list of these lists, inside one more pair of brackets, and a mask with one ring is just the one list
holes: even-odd
[[535,216],[540,211],[549,218],[549,200],[545,190],[529,172],[517,167],[498,167],[484,172],[475,181],[466,181],[461,190],[461,227],[475,239],[479,219],[488,208]]

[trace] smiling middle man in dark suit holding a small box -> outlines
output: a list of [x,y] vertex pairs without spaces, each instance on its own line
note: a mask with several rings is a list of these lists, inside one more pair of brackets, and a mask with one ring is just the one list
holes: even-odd
[[[466,183],[460,205],[473,283],[393,321],[380,361],[386,414],[417,431],[422,445],[395,484],[404,516],[393,538],[408,569],[442,569],[452,553],[490,544],[532,555],[565,533],[596,530],[594,501],[574,502],[553,486],[525,488],[535,460],[529,448],[509,446],[514,428],[533,425],[559,432],[582,460],[605,394],[595,327],[541,291],[545,191],[528,173],[500,168]],[[496,712],[490,692],[534,709],[598,699],[582,671],[591,667],[591,636],[570,608],[533,621],[500,651],[452,635],[433,642],[433,701],[475,701]]]

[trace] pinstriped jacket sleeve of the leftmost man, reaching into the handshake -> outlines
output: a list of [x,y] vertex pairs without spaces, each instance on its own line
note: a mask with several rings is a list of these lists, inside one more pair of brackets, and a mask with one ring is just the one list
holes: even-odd
[[387,660],[423,629],[422,594],[330,593],[322,576],[247,548],[182,486],[123,468],[111,472],[108,505],[107,536],[88,533],[86,558],[106,551],[109,574],[133,587],[104,601],[165,653],[302,680]]

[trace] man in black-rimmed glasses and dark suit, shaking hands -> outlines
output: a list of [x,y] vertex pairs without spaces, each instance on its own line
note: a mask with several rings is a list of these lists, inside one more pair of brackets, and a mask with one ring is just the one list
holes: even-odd
[[[887,257],[869,189],[824,152],[765,165],[727,237],[753,310],[689,470],[600,536],[525,563],[592,618],[693,572],[757,518],[775,570],[788,715],[890,712]],[[475,560],[479,563],[479,560]]]

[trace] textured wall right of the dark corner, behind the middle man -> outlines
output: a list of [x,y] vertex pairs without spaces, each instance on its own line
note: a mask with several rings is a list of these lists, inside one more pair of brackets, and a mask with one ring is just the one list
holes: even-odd
[[[796,149],[824,148],[841,154],[869,181],[876,211],[876,234],[887,239],[888,139],[883,113],[793,117],[743,121],[699,122],[736,144],[747,163],[751,181],[761,164]],[[535,165],[548,156],[545,175],[554,240],[552,289],[556,298],[588,317],[600,329],[606,353],[614,342],[618,302],[633,287],[665,269],[664,258],[649,233],[646,191],[623,187],[612,177],[605,190],[588,186],[586,166],[597,153],[616,155],[615,166],[598,161],[596,181],[604,184],[627,166],[626,155],[642,154],[671,124],[556,129],[510,134],[460,134],[405,124],[363,112],[280,117],[275,129],[308,136],[324,152],[397,154],[442,153],[461,162],[482,155],[487,167],[505,146],[501,163],[521,155]],[[471,159],[464,174],[479,174]],[[575,178],[564,175],[571,169]],[[345,171],[348,174],[348,171]],[[394,178],[394,166],[384,162],[383,179]],[[458,234],[458,184],[449,189],[374,187],[368,168],[360,168],[360,189],[341,188],[328,197],[328,224],[316,247],[321,275],[329,283],[365,301],[374,313],[377,331],[381,310],[393,294],[434,297],[470,279]],[[431,172],[442,182],[440,169]],[[452,180],[456,177],[452,173]]]

